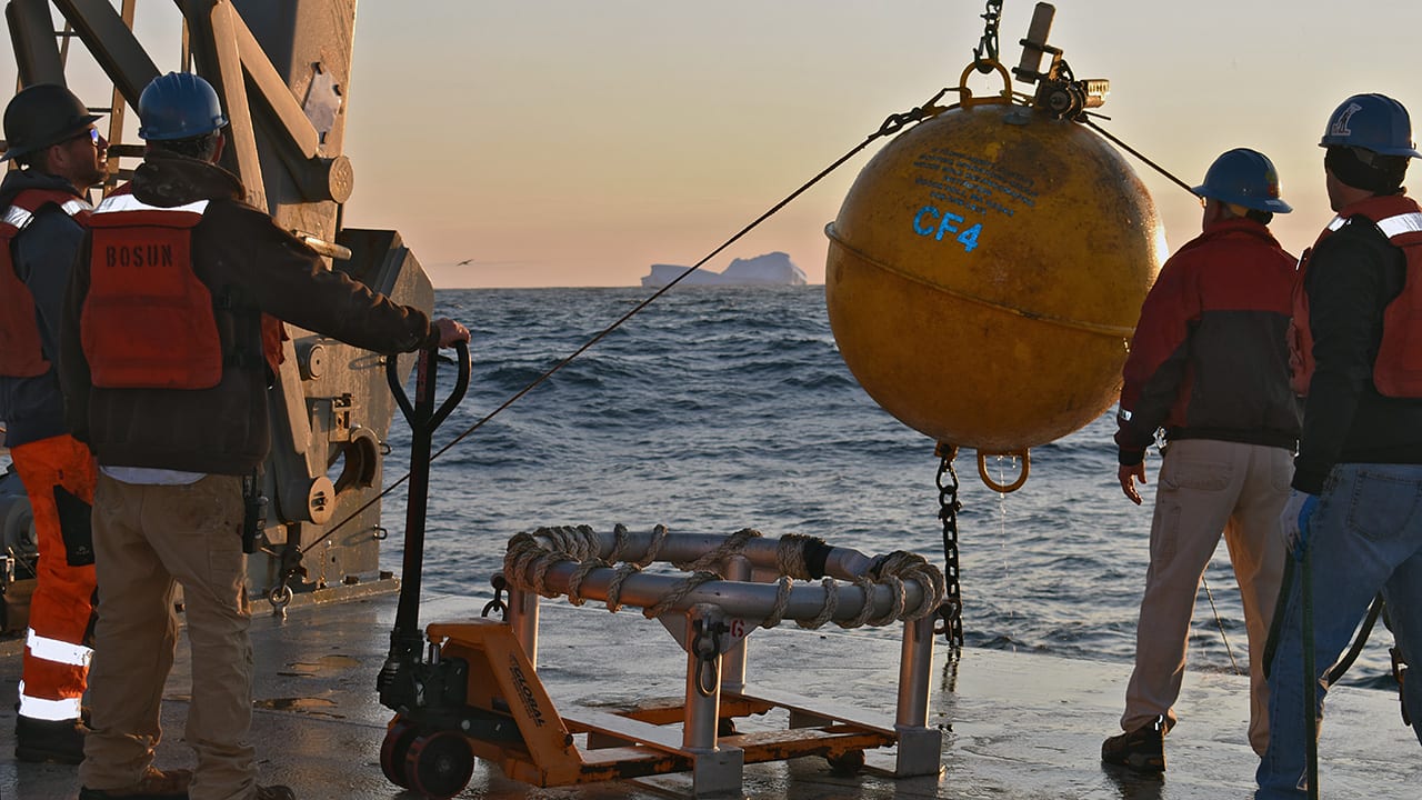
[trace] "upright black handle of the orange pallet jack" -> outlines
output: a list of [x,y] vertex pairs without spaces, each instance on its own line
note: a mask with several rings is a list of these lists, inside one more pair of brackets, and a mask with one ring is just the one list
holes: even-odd
[[429,504],[429,461],[435,428],[464,400],[469,389],[469,344],[455,343],[459,376],[454,390],[435,407],[435,373],[439,363],[437,347],[419,350],[415,362],[414,403],[405,394],[400,380],[400,363],[395,357],[385,360],[385,380],[395,397],[405,421],[410,423],[410,498],[405,504],[405,552],[400,574],[400,605],[395,609],[395,628],[390,632],[391,658],[417,656],[424,648],[419,631],[419,578],[425,557],[425,511]]

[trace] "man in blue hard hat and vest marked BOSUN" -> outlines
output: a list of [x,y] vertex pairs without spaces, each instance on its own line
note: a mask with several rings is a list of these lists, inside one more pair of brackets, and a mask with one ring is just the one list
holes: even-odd
[[[218,167],[228,124],[210,84],[159,75],[138,102],[148,152],[131,192],[88,222],[65,296],[61,384],[100,464],[102,586],[80,800],[293,800],[257,784],[243,480],[270,450],[272,315],[378,353],[468,342],[449,319],[327,269],[245,202]],[[154,766],[183,591],[196,769]]]

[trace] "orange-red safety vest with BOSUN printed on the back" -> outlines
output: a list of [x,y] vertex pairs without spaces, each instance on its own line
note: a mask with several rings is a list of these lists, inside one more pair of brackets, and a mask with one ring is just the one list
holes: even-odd
[[[210,389],[223,352],[212,292],[192,269],[192,229],[208,201],[146,205],[124,186],[104,199],[90,229],[90,290],[80,340],[94,386]],[[274,372],[286,332],[262,315],[262,350]]]

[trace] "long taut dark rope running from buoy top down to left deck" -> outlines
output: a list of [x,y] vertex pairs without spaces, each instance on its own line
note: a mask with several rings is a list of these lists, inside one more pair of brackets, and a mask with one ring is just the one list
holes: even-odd
[[[715,258],[718,253],[721,253],[721,251],[724,251],[724,249],[729,248],[731,245],[734,245],[735,242],[738,242],[742,236],[745,236],[752,229],[755,229],[757,225],[759,225],[759,223],[765,222],[766,219],[769,219],[778,211],[781,211],[782,208],[785,208],[786,205],[789,205],[791,201],[793,201],[795,198],[798,198],[802,194],[805,194],[806,191],[809,191],[809,188],[813,186],[815,184],[820,182],[826,175],[829,175],[830,172],[833,172],[835,169],[838,169],[839,167],[842,167],[850,158],[859,155],[859,152],[863,151],[870,144],[873,144],[875,140],[879,140],[879,138],[887,137],[887,135],[899,134],[900,131],[903,131],[909,125],[916,125],[919,122],[923,122],[924,120],[930,120],[930,118],[937,117],[939,114],[947,111],[948,107],[939,105],[937,102],[939,102],[939,98],[941,98],[948,91],[950,90],[947,90],[947,88],[939,90],[939,93],[934,94],[923,105],[914,107],[914,108],[912,108],[912,110],[909,110],[909,111],[906,111],[903,114],[890,114],[883,121],[883,124],[879,127],[879,130],[875,131],[873,134],[870,134],[869,137],[866,137],[865,141],[862,141],[860,144],[857,144],[853,148],[850,148],[849,152],[846,152],[845,155],[842,155],[838,159],[835,159],[829,167],[820,169],[820,172],[818,175],[815,175],[813,178],[811,178],[805,184],[802,184],[798,189],[795,189],[793,192],[791,192],[789,195],[786,195],[785,199],[782,199],[781,202],[778,202],[774,206],[771,206],[769,211],[766,211],[765,214],[757,216],[755,221],[752,221],[749,225],[747,225],[745,228],[741,228],[734,236],[731,236],[729,239],[727,239],[725,242],[722,242],[720,246],[717,246],[714,251],[711,251],[710,253],[707,253],[705,256],[702,256],[701,260],[698,260],[697,263],[688,266],[681,275],[678,275],[670,283],[667,283],[661,289],[656,290],[646,300],[637,303],[631,310],[629,310],[623,316],[617,317],[616,322],[613,322],[611,325],[609,325],[607,327],[604,327],[602,332],[599,332],[596,336],[593,336],[592,339],[589,339],[587,343],[584,343],[582,347],[579,347],[577,350],[573,350],[573,353],[570,353],[567,357],[565,357],[559,363],[553,364],[552,367],[549,367],[547,372],[545,372],[543,374],[538,376],[533,381],[530,381],[523,389],[520,389],[516,393],[513,393],[508,400],[505,400],[502,404],[499,404],[499,407],[496,407],[495,410],[492,410],[488,414],[485,414],[483,419],[481,419],[479,421],[474,423],[464,433],[461,433],[459,436],[456,436],[452,441],[449,441],[448,444],[445,444],[444,447],[441,447],[439,450],[437,450],[429,457],[429,461],[434,463],[437,458],[439,458],[441,456],[444,456],[445,451],[448,451],[455,444],[459,444],[461,441],[464,441],[465,438],[468,438],[474,431],[476,431],[481,427],[483,427],[489,420],[492,420],[493,417],[496,417],[501,411],[503,411],[505,409],[508,409],[513,403],[518,403],[525,394],[528,394],[529,391],[533,391],[533,389],[536,389],[545,380],[547,380],[555,373],[557,373],[560,369],[563,369],[569,363],[572,363],[573,359],[577,359],[579,356],[582,356],[583,353],[586,353],[589,349],[592,349],[594,344],[597,344],[599,342],[602,342],[604,337],[607,337],[607,335],[610,335],[613,330],[616,330],[617,327],[620,327],[624,322],[627,322],[629,319],[631,319],[633,316],[636,316],[637,313],[640,313],[643,309],[646,309],[647,306],[650,306],[658,298],[661,298],[663,295],[665,295],[673,286],[675,286],[677,283],[681,283],[681,280],[684,278],[687,278],[688,275],[691,275],[693,272],[695,272],[697,269],[700,269],[702,265],[705,265],[708,260],[711,260],[712,258]],[[330,537],[331,534],[334,534],[336,531],[338,531],[343,525],[346,525],[347,522],[350,522],[351,520],[354,520],[356,517],[358,517],[363,511],[365,511],[367,508],[370,508],[371,505],[374,505],[383,497],[385,497],[387,494],[390,494],[391,491],[394,491],[395,488],[398,488],[407,480],[410,480],[410,473],[405,473],[395,483],[392,483],[388,487],[385,487],[380,494],[377,494],[375,497],[373,497],[368,501],[365,501],[360,508],[357,508],[356,511],[353,511],[348,517],[346,517],[344,520],[341,520],[336,525],[331,525],[331,528],[327,530],[324,534],[321,534],[316,541],[313,541],[311,544],[303,547],[300,549],[300,554],[304,555],[313,547],[316,547],[320,542],[326,541],[327,537]],[[283,584],[284,584],[284,581],[283,581]]]

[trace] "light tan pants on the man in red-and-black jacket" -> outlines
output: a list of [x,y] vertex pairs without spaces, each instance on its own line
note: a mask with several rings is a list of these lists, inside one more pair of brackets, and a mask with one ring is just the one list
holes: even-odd
[[1249,740],[1263,754],[1268,746],[1264,643],[1284,575],[1278,514],[1293,475],[1293,454],[1281,447],[1186,438],[1166,448],[1122,729],[1135,730],[1156,716],[1175,726],[1196,595],[1223,532],[1249,632]]

